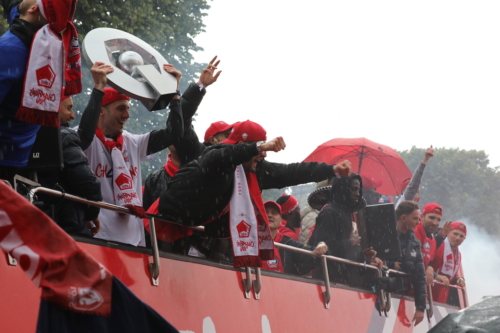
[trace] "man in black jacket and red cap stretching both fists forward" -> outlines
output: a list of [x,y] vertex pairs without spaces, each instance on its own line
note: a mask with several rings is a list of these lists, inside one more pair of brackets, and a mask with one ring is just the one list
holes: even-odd
[[258,124],[235,124],[229,138],[208,147],[202,155],[181,167],[160,197],[159,212],[185,226],[205,224],[209,236],[229,237],[227,207],[233,194],[236,167],[255,173],[260,190],[318,182],[329,176],[347,174],[350,163],[338,165],[316,162],[279,164],[266,161],[267,151],[285,148],[282,137],[266,140]]

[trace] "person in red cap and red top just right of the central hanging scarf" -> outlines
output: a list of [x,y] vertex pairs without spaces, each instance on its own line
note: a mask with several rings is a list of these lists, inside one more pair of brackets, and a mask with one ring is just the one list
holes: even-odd
[[[304,250],[314,251],[317,255],[323,255],[328,251],[328,246],[326,246],[324,242],[321,242],[316,247],[314,247],[310,245],[304,245],[298,242],[293,237],[290,237],[291,235],[288,234],[286,230],[284,231],[283,228],[281,228],[283,221],[281,212],[283,211],[283,207],[281,207],[278,203],[274,201],[266,201],[264,202],[264,207],[266,209],[267,219],[269,220],[269,228],[271,229],[271,236],[273,237],[274,242]],[[299,266],[303,266],[305,264],[302,263],[302,261],[309,261],[311,266],[309,271],[312,269],[314,263],[311,257],[302,259],[299,256],[293,256],[293,254],[293,252],[279,250],[277,247],[275,247],[274,259],[263,261],[262,269],[266,269],[269,271],[278,271],[281,273],[292,273],[297,272],[298,269],[302,270],[302,268],[299,268]],[[283,257],[285,258],[284,260],[282,260]],[[309,272],[300,271],[300,273],[307,274]]]

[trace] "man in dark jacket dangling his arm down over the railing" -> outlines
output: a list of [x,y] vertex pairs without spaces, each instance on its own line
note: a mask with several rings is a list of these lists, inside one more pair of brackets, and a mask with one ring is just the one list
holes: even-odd
[[413,201],[403,201],[396,209],[397,230],[401,253],[400,261],[387,262],[389,268],[401,270],[410,274],[411,283],[415,292],[415,315],[412,322],[415,326],[424,319],[426,302],[425,269],[420,248],[420,241],[415,237],[414,230],[418,224],[420,210]]

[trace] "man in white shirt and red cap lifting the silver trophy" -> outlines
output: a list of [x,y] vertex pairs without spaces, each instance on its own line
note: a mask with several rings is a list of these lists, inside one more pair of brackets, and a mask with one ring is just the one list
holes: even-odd
[[[176,77],[179,86],[182,74],[172,65],[165,65],[164,69]],[[123,129],[130,117],[129,100],[130,97],[113,88],[104,89],[97,130],[84,152],[90,168],[101,180],[103,201],[127,207],[135,215],[102,209],[99,214],[101,230],[95,237],[144,246],[141,161],[151,160],[152,154],[182,137],[182,110],[177,95],[170,102],[165,128],[136,135]]]

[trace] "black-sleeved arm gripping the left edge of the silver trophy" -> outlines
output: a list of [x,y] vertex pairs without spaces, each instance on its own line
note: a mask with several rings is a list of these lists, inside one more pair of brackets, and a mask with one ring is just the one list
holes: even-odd
[[78,126],[78,136],[80,137],[80,147],[82,150],[87,149],[92,140],[94,140],[95,129],[99,121],[99,114],[101,113],[101,104],[104,97],[104,87],[108,82],[106,74],[113,72],[114,69],[110,65],[103,62],[95,62],[90,72],[94,79],[94,89],[90,94],[87,107],[83,111],[80,125]]

